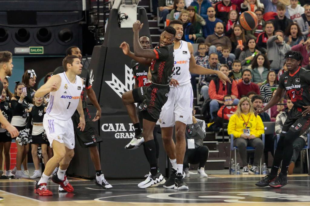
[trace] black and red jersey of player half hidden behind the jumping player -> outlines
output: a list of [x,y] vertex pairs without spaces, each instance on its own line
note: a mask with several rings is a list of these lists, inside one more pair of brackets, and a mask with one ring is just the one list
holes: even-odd
[[150,82],[148,82],[148,66],[135,60],[131,60],[131,66],[134,78],[138,81],[138,87],[150,85]]

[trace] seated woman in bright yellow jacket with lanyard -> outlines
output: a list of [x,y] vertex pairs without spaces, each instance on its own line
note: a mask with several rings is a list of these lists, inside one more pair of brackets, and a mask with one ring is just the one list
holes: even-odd
[[[234,137],[234,146],[238,147],[243,164],[242,174],[255,174],[259,160],[263,155],[264,145],[259,138],[264,133],[264,125],[260,116],[255,117],[254,108],[249,98],[240,99],[237,111],[229,119],[228,134]],[[246,147],[255,147],[254,162],[249,171],[246,161]]]

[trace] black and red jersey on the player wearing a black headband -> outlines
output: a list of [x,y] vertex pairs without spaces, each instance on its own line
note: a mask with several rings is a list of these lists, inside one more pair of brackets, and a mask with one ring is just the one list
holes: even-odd
[[304,110],[303,106],[310,105],[309,85],[310,71],[302,67],[299,67],[294,74],[290,74],[289,71],[285,72],[279,80],[279,88],[286,90],[286,94],[298,111]]

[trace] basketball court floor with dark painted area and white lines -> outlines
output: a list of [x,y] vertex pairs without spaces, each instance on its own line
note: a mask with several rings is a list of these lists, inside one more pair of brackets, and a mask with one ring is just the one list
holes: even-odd
[[310,205],[310,176],[289,175],[289,184],[280,189],[255,186],[260,175],[209,175],[185,178],[188,191],[168,190],[161,186],[141,189],[139,179],[109,180],[113,190],[104,190],[91,180],[72,179],[73,193],[58,193],[58,185],[49,182],[54,195],[33,193],[35,180],[0,180],[2,205],[10,206],[123,206],[123,205]]

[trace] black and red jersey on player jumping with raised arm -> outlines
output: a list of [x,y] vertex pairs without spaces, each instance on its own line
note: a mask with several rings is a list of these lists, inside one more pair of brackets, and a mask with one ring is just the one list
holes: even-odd
[[173,44],[154,48],[156,58],[152,60],[150,72],[152,82],[160,85],[169,85],[173,75],[174,49]]

